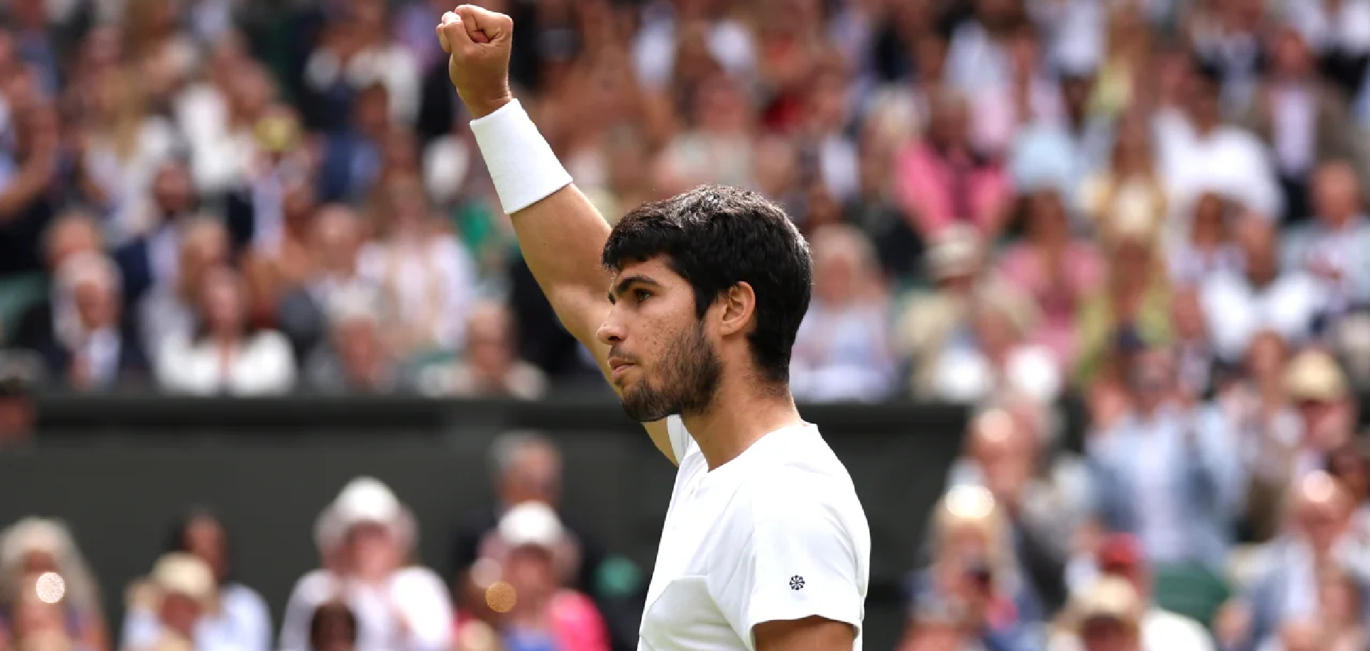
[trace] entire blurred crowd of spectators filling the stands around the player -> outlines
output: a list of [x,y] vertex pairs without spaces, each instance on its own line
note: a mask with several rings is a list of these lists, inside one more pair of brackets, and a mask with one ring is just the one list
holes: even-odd
[[[815,265],[800,400],[973,407],[903,651],[1367,648],[1370,0],[478,4],[514,16],[515,95],[608,219],[704,182],[785,207]],[[597,385],[448,84],[448,8],[5,3],[0,434],[40,385]],[[349,487],[281,647],[632,639],[636,615],[559,588],[588,589],[570,529],[522,502],[462,543],[453,633],[448,581],[407,566],[415,525]],[[121,644],[270,646],[259,599],[190,544],[214,522],[185,526]],[[11,637],[111,648],[97,604],[33,585]],[[234,610],[249,624],[204,615]]]

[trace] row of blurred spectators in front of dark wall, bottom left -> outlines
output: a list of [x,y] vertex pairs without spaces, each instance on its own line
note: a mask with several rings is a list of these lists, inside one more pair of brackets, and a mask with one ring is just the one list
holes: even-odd
[[318,567],[295,582],[279,622],[240,581],[233,536],[211,510],[169,528],[162,555],[123,591],[118,628],[68,528],[21,519],[0,532],[0,651],[636,648],[645,584],[563,522],[558,448],[514,432],[490,465],[496,502],[447,532],[451,577],[415,556],[418,522],[389,487],[349,481],[314,524]]

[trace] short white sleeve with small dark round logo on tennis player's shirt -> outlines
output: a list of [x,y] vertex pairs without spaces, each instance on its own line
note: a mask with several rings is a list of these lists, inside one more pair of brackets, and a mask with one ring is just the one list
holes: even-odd
[[755,648],[752,629],[770,621],[822,617],[860,630],[867,582],[862,545],[838,506],[817,496],[818,487],[801,493],[807,496],[754,496],[749,513],[740,510],[726,524],[729,536],[749,536],[726,559],[736,572],[722,573],[725,582],[710,588],[748,648]]

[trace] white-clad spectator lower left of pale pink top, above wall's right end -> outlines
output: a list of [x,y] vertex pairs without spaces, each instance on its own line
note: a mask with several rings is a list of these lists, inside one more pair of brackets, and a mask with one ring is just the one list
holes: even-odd
[[1051,349],[1029,343],[1038,319],[1026,296],[1001,282],[985,282],[971,297],[969,322],[955,330],[937,360],[936,396],[970,403],[997,392],[1051,402],[1060,369]]

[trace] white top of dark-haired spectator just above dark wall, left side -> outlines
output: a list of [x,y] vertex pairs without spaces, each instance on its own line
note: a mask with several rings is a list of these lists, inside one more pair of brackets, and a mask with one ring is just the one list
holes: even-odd
[[295,354],[274,330],[249,334],[225,365],[212,340],[171,337],[156,358],[158,382],[178,393],[236,396],[284,393],[295,386]]

